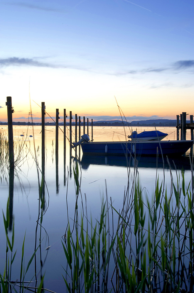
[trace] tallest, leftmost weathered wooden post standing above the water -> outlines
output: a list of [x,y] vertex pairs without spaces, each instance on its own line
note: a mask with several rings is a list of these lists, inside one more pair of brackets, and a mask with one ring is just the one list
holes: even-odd
[[9,166],[14,168],[14,137],[13,137],[13,120],[11,97],[7,97],[7,124],[8,124],[8,142],[9,142]]

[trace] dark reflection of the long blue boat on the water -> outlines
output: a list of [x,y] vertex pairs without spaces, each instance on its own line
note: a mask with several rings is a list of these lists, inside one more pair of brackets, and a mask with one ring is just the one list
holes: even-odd
[[[169,158],[169,163],[171,169],[178,170],[190,170],[190,159],[188,156],[179,156],[178,158]],[[164,166],[163,160],[161,157],[137,157],[136,160],[131,157],[125,156],[105,156],[105,155],[83,155],[81,160],[81,167],[83,169],[89,168],[90,165],[108,165],[108,166],[121,166],[121,167],[134,167],[138,168],[165,168],[169,169],[170,166],[167,162],[167,159],[164,158]]]

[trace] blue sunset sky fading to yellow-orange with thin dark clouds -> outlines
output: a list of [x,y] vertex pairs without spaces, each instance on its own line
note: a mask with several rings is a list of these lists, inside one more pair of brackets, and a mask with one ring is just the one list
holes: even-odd
[[13,121],[41,122],[41,102],[47,122],[118,120],[117,103],[128,121],[194,114],[193,15],[193,0],[1,0],[0,121],[7,96]]

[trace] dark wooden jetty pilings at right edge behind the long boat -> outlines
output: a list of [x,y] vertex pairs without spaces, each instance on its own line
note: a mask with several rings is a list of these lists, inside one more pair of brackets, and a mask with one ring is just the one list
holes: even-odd
[[193,115],[190,115],[190,123],[187,123],[186,112],[182,112],[182,114],[176,115],[176,139],[179,140],[179,130],[180,130],[180,140],[186,140],[186,130],[190,129],[191,133],[191,140],[193,140],[193,130],[194,130],[194,123],[193,123]]

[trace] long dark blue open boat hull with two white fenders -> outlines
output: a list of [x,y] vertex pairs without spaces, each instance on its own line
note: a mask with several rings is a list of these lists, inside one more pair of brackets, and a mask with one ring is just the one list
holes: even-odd
[[193,145],[192,140],[171,141],[130,141],[130,142],[83,142],[81,143],[83,154],[104,155],[129,155],[136,156],[180,156],[185,154]]

